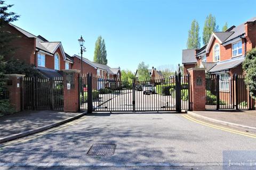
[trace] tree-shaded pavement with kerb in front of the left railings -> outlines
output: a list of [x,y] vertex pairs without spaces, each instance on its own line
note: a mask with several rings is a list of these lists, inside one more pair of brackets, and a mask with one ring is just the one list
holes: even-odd
[[0,143],[49,129],[79,117],[81,113],[23,111],[0,117]]

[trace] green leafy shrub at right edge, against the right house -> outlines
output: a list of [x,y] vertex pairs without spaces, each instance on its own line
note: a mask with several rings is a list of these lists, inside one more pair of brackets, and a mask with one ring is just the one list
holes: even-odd
[[252,98],[256,99],[256,48],[247,52],[243,63],[245,70],[245,84],[249,89]]

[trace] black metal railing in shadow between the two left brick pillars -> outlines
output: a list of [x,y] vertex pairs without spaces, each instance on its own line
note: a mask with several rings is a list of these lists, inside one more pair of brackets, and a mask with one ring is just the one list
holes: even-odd
[[22,109],[54,111],[63,110],[63,78],[36,78],[22,79]]

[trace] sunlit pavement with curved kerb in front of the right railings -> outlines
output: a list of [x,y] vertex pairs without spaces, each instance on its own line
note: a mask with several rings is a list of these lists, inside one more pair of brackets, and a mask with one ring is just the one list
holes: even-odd
[[255,110],[193,111],[188,112],[188,114],[205,121],[256,132]]

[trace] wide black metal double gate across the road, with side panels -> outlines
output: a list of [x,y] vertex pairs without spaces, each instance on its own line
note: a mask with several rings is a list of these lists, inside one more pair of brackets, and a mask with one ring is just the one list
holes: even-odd
[[165,112],[190,109],[190,76],[118,81],[87,74],[79,78],[81,110],[95,112]]

